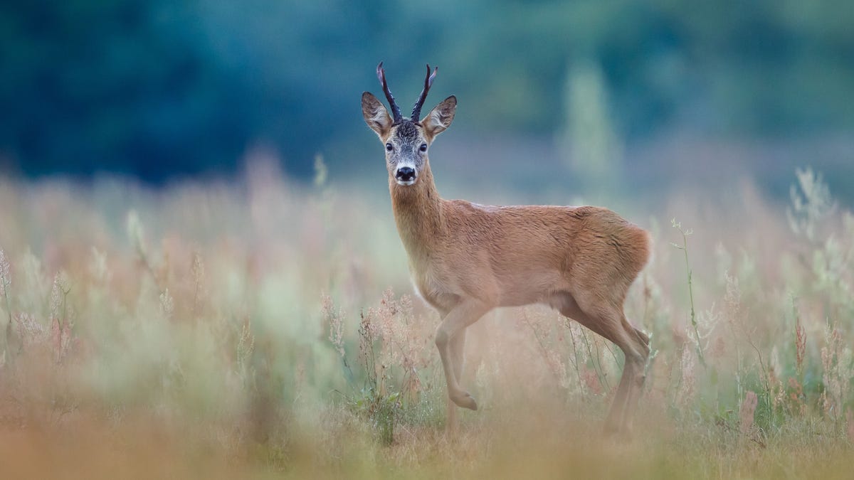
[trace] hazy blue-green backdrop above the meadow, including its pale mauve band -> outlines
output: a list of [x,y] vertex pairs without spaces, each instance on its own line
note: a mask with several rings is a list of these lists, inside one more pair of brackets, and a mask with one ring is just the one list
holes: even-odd
[[811,165],[850,205],[852,20],[847,0],[6,2],[0,172],[162,184],[262,149],[295,179],[321,155],[331,181],[384,184],[359,103],[382,97],[383,60],[404,114],[427,62],[425,110],[459,97],[432,150],[440,190],[748,179],[785,201]]

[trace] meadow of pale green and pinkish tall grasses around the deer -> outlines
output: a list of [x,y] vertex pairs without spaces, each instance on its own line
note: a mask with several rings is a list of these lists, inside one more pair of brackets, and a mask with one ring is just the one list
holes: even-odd
[[600,434],[618,349],[536,306],[472,327],[481,409],[446,433],[438,315],[376,173],[370,194],[264,162],[158,190],[0,179],[0,477],[854,471],[854,215],[817,173],[788,202],[744,182],[607,203],[656,242],[626,305],[653,349],[626,440]]

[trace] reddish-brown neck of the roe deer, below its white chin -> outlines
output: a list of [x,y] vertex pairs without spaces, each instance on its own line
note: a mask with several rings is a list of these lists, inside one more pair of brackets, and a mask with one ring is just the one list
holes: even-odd
[[391,208],[397,231],[415,266],[430,258],[442,234],[442,199],[436,191],[430,165],[425,165],[414,185],[402,186],[389,177]]

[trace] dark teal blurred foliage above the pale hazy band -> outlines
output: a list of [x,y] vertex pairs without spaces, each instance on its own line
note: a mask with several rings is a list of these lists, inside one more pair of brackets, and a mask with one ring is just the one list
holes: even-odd
[[160,180],[264,144],[308,175],[316,153],[349,160],[380,60],[404,111],[440,65],[435,97],[459,95],[475,132],[563,131],[579,64],[627,141],[845,132],[851,20],[845,0],[3,3],[0,166]]

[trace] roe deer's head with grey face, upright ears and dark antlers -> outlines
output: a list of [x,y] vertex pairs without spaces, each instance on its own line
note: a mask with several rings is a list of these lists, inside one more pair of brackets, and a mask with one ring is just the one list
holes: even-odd
[[436,67],[430,73],[430,65],[427,66],[427,76],[424,78],[424,90],[418,96],[418,100],[412,107],[411,118],[404,118],[401,109],[397,107],[395,97],[389,91],[389,84],[385,80],[383,62],[377,65],[377,78],[383,85],[383,92],[391,107],[391,115],[385,109],[383,103],[377,100],[370,92],[362,93],[362,116],[371,130],[377,132],[380,141],[385,144],[385,163],[389,170],[389,176],[399,185],[407,186],[418,181],[418,174],[429,165],[427,149],[436,135],[444,132],[451,126],[453,114],[457,109],[457,97],[447,97],[436,108],[430,110],[423,119],[418,119],[421,114],[421,106],[433,85],[433,79],[439,68]]

